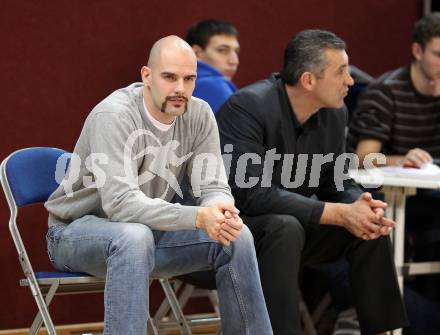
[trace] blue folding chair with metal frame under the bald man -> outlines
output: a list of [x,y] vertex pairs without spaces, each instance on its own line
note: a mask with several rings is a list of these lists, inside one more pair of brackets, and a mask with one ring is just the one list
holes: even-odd
[[[20,285],[28,286],[31,289],[38,306],[38,313],[28,334],[36,334],[43,322],[50,335],[56,334],[49,314],[50,302],[56,294],[94,293],[104,290],[104,279],[85,273],[34,272],[17,226],[18,209],[26,205],[45,202],[49,198],[62,180],[69,157],[70,154],[61,149],[26,148],[9,155],[3,160],[0,167],[1,184],[11,212],[9,230],[25,275],[25,278],[20,280]],[[61,176],[55,175],[57,163],[59,163],[59,167],[64,169],[61,170],[63,172]],[[46,222],[44,224],[47,225]],[[156,279],[159,280],[172,313],[178,320],[177,326],[181,333],[190,335],[190,327],[168,279]],[[149,334],[158,334],[151,318],[148,319],[148,328]]]

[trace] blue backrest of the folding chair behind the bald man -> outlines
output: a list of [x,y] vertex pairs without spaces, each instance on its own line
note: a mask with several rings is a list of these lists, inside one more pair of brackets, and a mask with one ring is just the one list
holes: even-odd
[[[55,171],[58,159],[68,152],[57,148],[26,148],[9,155],[1,166],[1,181],[8,201],[17,207],[44,202],[58,187]],[[9,193],[9,194],[8,194]]]

